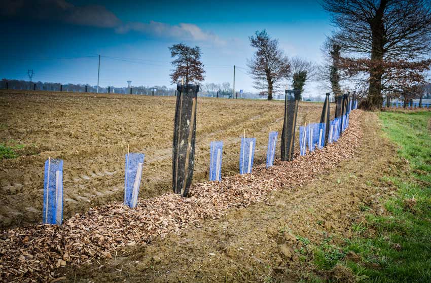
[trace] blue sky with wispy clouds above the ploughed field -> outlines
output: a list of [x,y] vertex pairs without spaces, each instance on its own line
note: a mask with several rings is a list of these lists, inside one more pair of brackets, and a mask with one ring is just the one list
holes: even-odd
[[[303,1],[72,1],[3,0],[0,77],[100,85],[170,87],[168,46],[201,47],[205,82],[253,89],[246,59],[248,37],[266,29],[288,56],[321,60],[320,46],[332,27],[316,0]],[[5,9],[3,9],[5,8]],[[6,39],[6,40],[5,40]],[[78,58],[79,57],[79,58]],[[82,58],[81,58],[82,57]],[[115,57],[115,58],[108,58]],[[306,85],[306,95],[325,91]]]

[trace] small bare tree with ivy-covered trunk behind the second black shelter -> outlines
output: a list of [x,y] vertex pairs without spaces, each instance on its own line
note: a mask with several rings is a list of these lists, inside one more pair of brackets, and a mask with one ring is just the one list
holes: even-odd
[[301,57],[293,57],[290,60],[292,72],[292,86],[295,90],[304,90],[304,85],[307,81],[313,79],[317,74],[316,66],[313,62],[305,60]]

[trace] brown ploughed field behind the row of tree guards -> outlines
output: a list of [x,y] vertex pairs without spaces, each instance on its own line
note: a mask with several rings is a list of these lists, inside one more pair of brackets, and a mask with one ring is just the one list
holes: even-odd
[[[298,126],[318,121],[321,107],[300,103]],[[140,197],[170,191],[174,108],[175,97],[0,92],[0,143],[25,145],[0,161],[0,229],[41,221],[49,156],[64,160],[65,219],[122,200],[127,145],[146,154]],[[244,129],[257,139],[255,164],[265,162],[268,132],[281,130],[282,117],[282,101],[199,98],[194,182],[208,178],[213,139],[224,141],[223,176],[238,172]]]

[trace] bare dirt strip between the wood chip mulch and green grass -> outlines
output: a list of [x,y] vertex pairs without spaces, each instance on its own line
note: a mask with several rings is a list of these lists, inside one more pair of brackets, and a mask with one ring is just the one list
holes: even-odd
[[[296,282],[309,265],[298,252],[304,239],[340,242],[361,221],[361,206],[383,213],[379,199],[393,190],[380,181],[396,173],[396,149],[382,137],[373,113],[362,115],[363,145],[354,158],[312,182],[278,190],[268,202],[231,208],[181,236],[172,235],[123,252],[106,262],[66,269],[62,282]],[[370,210],[368,210],[368,213]],[[302,240],[301,240],[302,239]],[[352,281],[344,270],[323,274]]]

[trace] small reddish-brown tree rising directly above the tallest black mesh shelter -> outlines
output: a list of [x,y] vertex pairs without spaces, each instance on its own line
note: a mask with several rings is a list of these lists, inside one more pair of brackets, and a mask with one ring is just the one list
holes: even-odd
[[176,84],[184,79],[188,83],[197,83],[204,80],[204,65],[200,61],[201,51],[198,46],[189,47],[184,43],[174,44],[169,47],[172,58],[171,64],[175,67],[170,74],[171,82]]

